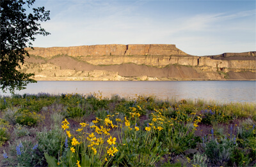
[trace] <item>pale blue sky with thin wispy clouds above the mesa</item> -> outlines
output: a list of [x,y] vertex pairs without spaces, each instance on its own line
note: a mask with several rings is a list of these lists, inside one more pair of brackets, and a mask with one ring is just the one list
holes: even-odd
[[49,36],[33,47],[175,44],[191,55],[256,50],[255,1],[36,0]]

